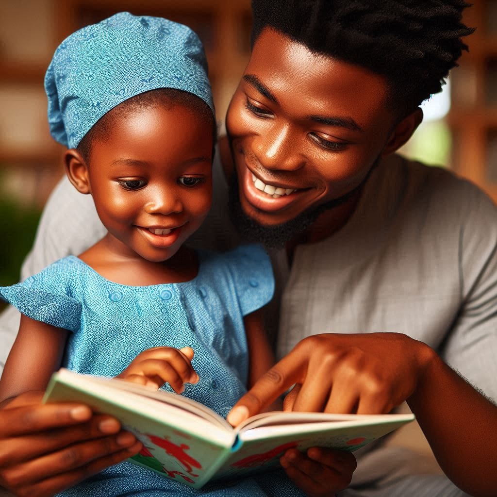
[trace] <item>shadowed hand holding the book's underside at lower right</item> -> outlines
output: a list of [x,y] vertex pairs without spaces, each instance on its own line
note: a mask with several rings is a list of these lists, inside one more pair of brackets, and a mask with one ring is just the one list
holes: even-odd
[[290,449],[280,458],[288,478],[309,497],[330,497],[348,487],[357,464],[347,452],[312,447]]

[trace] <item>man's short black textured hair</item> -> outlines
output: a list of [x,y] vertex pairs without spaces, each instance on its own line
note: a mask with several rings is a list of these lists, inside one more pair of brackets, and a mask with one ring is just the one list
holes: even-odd
[[252,46],[273,28],[309,50],[386,78],[387,105],[407,115],[441,91],[473,33],[463,0],[252,0]]

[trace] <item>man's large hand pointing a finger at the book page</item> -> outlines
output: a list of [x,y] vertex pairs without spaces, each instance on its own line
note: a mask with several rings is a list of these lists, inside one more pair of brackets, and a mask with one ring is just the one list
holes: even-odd
[[385,414],[412,395],[434,355],[401,333],[309,336],[254,384],[228,421],[240,424],[292,385],[287,410]]

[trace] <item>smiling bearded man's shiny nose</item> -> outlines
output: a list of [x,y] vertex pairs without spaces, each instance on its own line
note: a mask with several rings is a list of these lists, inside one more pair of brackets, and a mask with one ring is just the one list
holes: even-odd
[[304,166],[300,141],[291,126],[279,126],[256,137],[254,153],[266,169],[297,170]]

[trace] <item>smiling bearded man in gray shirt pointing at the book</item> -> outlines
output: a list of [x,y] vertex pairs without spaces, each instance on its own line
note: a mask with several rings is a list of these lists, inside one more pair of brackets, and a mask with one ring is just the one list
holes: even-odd
[[[238,243],[226,231],[230,182],[240,239],[263,242],[275,263],[280,318],[268,321],[279,329],[282,360],[240,400],[234,424],[293,384],[287,407],[301,411],[385,413],[407,400],[449,479],[491,495],[497,409],[444,361],[496,396],[496,209],[450,173],[393,155],[466,48],[464,7],[254,1],[252,54],[228,110],[229,140],[220,142],[216,205],[194,242]],[[89,202],[77,202],[62,182],[25,275],[103,234]],[[69,435],[67,410],[42,415],[30,402],[7,404],[0,421],[8,426],[15,413],[57,428],[60,441],[47,451],[75,443],[86,474],[98,461],[110,464],[110,449],[87,449],[99,436],[91,420]],[[58,412],[66,417],[57,422]],[[15,438],[8,428],[0,434]],[[25,459],[34,457],[27,436],[16,436]],[[384,466],[389,451],[380,444],[366,452],[340,496],[465,495],[443,475]],[[58,471],[69,481],[66,468]]]

